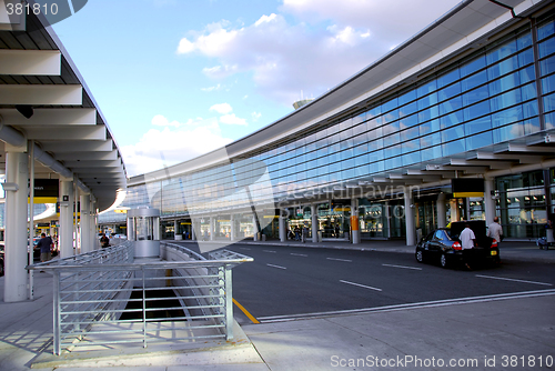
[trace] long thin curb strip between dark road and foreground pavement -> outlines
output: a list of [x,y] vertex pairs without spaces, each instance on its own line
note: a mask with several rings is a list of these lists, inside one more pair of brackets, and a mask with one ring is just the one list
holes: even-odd
[[287,321],[296,321],[299,319],[335,317],[335,315],[355,314],[355,313],[393,312],[393,311],[413,310],[421,308],[450,307],[458,304],[483,303],[483,302],[507,300],[507,299],[537,298],[546,295],[555,295],[555,290],[548,289],[548,290],[522,291],[522,292],[501,293],[501,294],[482,295],[482,297],[467,297],[460,299],[423,301],[418,303],[384,305],[375,308],[347,309],[340,311],[313,312],[313,313],[289,314],[289,315],[259,317],[259,321],[261,323],[287,322]]

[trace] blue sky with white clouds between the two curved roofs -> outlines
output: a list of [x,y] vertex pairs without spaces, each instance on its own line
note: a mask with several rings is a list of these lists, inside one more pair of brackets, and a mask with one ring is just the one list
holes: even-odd
[[90,0],[53,26],[128,177],[241,139],[460,0]]

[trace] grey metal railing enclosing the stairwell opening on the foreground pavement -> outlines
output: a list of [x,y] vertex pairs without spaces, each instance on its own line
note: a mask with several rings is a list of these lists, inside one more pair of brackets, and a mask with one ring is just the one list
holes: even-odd
[[231,269],[253,259],[231,252],[205,259],[162,245],[192,260],[135,263],[133,242],[125,241],[27,268],[53,275],[54,354],[72,347],[233,338]]

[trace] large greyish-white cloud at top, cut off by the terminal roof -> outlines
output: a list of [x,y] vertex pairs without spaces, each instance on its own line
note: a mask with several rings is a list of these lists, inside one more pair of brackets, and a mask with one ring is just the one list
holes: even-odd
[[178,53],[215,60],[203,69],[213,79],[249,73],[259,93],[289,106],[301,90],[317,97],[341,83],[458,2],[283,0],[252,24],[221,21],[191,32]]

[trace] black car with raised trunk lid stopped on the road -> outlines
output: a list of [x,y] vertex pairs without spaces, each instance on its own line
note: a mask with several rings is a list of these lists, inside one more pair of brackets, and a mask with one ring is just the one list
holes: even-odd
[[[476,235],[477,245],[473,249],[463,250],[458,239],[465,224],[470,224]],[[501,262],[497,242],[487,237],[483,220],[453,222],[451,228],[436,229],[418,242],[415,257],[418,262],[438,262],[443,268],[457,263],[474,265]]]

